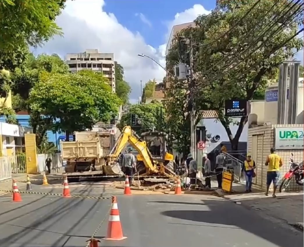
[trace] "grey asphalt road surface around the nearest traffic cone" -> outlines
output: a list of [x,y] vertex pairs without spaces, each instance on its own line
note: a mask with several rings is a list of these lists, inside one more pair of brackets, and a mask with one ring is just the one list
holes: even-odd
[[[38,187],[34,188],[37,189]],[[78,195],[109,195],[102,185],[71,185]],[[56,186],[43,192],[61,192]],[[111,201],[22,194],[22,202],[0,197],[0,247],[85,247],[106,234]],[[215,196],[118,195],[128,238],[116,247],[302,247],[303,233],[278,225],[242,205]]]

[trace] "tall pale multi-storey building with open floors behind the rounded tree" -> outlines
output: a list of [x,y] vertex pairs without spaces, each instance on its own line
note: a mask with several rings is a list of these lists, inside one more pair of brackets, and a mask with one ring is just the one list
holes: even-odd
[[102,72],[115,92],[114,53],[99,53],[98,49],[86,49],[82,53],[68,53],[65,59],[72,73],[83,69]]

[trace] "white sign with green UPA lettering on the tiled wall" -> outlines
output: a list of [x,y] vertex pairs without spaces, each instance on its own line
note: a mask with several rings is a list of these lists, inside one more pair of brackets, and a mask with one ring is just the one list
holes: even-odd
[[275,128],[276,149],[303,149],[303,128]]

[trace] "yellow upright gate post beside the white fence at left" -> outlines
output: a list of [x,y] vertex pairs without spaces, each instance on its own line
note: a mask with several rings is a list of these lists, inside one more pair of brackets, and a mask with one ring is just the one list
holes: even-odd
[[37,174],[36,134],[24,134],[26,173]]

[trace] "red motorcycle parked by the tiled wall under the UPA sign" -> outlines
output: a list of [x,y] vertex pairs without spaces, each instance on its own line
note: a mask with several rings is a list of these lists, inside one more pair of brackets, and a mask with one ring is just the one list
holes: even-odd
[[293,154],[291,154],[292,158],[290,158],[290,168],[289,172],[284,175],[284,179],[280,185],[279,191],[284,191],[288,185],[290,184],[292,178],[295,176],[295,182],[298,185],[303,186],[304,175],[303,175],[303,162],[298,163],[293,161]]

